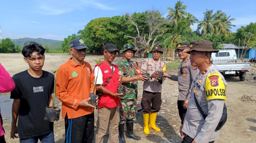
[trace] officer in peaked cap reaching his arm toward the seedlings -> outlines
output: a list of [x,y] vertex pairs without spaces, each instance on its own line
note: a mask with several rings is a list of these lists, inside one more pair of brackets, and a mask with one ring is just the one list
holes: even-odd
[[192,66],[189,59],[189,54],[185,53],[190,50],[189,43],[182,42],[176,44],[177,54],[179,55],[182,62],[180,64],[178,75],[172,75],[164,73],[165,77],[173,81],[177,81],[179,86],[179,96],[177,101],[177,106],[179,110],[179,115],[181,118],[181,124],[183,124],[186,112],[187,112],[187,103],[190,99],[191,94],[191,84],[193,83],[195,77],[199,73],[197,67]]

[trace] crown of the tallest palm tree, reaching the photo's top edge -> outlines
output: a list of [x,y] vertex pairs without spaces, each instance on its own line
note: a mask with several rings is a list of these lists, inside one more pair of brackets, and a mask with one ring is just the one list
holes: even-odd
[[174,23],[177,23],[177,21],[187,15],[187,12],[184,11],[187,9],[187,5],[182,5],[181,1],[177,1],[174,8],[167,7],[167,9],[169,10],[167,19],[173,21]]

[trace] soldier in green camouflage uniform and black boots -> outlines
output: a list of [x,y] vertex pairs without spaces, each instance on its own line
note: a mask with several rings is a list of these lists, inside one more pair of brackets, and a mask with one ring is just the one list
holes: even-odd
[[120,122],[118,126],[119,143],[125,143],[125,122],[127,138],[132,138],[134,140],[141,139],[141,137],[135,136],[133,133],[133,121],[137,114],[138,80],[145,81],[147,78],[145,75],[141,75],[138,62],[131,60],[135,52],[136,50],[131,44],[125,44],[123,46],[124,57],[116,63],[116,66],[119,68],[120,79],[123,73],[122,85],[127,87],[126,95],[120,100],[122,108],[120,108]]

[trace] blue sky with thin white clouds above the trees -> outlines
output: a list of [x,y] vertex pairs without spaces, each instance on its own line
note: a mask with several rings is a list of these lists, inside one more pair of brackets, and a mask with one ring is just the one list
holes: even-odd
[[[2,38],[46,38],[63,40],[84,29],[90,20],[112,17],[125,13],[144,12],[152,8],[168,15],[167,7],[174,7],[177,0],[1,0],[0,26]],[[256,22],[254,0],[183,0],[186,12],[203,20],[203,12],[222,10],[236,18],[232,28]],[[196,24],[191,26],[196,29]]]

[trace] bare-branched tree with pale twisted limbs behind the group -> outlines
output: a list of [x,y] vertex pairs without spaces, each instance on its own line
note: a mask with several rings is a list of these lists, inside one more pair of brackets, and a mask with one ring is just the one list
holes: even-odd
[[[140,33],[137,23],[135,23],[132,19],[132,15],[126,14],[126,17],[129,19],[131,24],[136,27],[137,35],[136,37],[125,35],[125,37],[129,37],[133,39],[134,46],[137,50],[136,53],[140,57],[147,56],[146,48],[148,46],[154,47],[156,45],[156,39],[162,36],[164,33],[164,31],[162,30],[163,25],[169,22],[167,19],[162,18],[161,14],[155,10],[147,11],[145,15],[146,15],[146,18],[144,19],[144,23],[148,25],[149,30],[146,33],[144,32]],[[141,48],[139,48],[139,45],[141,45]]]

